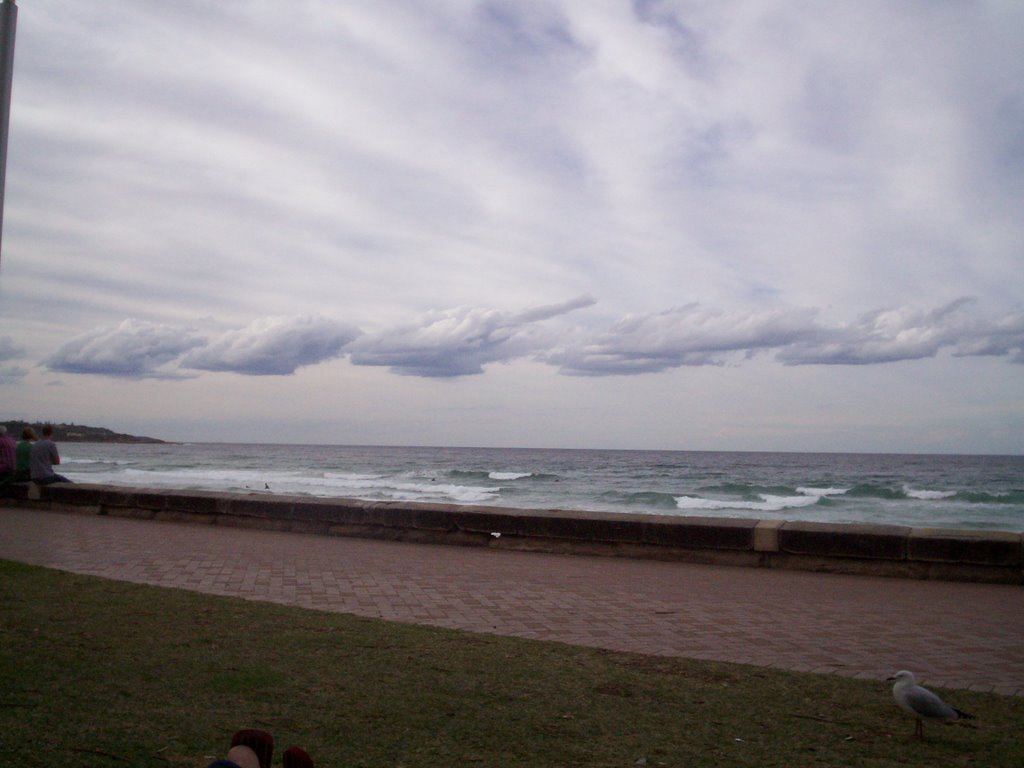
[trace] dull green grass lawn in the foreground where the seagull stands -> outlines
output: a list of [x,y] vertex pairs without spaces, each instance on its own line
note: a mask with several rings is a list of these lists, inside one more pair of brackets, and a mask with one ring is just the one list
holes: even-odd
[[0,561],[0,765],[203,768],[240,727],[321,768],[1024,765],[1024,699],[428,629]]

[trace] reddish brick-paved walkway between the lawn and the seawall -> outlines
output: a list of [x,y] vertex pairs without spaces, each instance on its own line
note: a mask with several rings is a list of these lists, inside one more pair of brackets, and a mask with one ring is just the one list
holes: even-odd
[[1024,695],[1024,589],[0,508],[0,558],[640,653]]

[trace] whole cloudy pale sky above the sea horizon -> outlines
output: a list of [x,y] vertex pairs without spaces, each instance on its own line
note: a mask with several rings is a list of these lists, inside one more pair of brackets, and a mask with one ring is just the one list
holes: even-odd
[[0,415],[1024,453],[1018,0],[23,0]]

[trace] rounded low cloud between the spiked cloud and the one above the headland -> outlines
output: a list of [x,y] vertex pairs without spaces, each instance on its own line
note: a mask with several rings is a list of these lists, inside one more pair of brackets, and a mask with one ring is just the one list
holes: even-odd
[[194,349],[181,365],[200,371],[287,376],[340,356],[361,333],[327,317],[265,317]]

